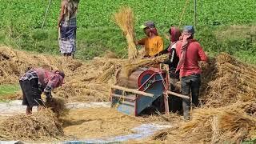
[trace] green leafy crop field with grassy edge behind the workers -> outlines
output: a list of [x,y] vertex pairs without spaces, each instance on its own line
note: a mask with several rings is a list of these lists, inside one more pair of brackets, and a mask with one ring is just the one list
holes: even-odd
[[[58,54],[57,20],[60,0],[53,0],[46,26],[41,30],[48,1],[0,0],[0,44],[39,53]],[[93,58],[111,50],[126,54],[126,40],[112,15],[120,6],[130,6],[135,15],[136,38],[142,38],[138,28],[146,20],[156,22],[163,36],[171,25],[194,24],[193,0],[81,0],[78,11],[78,53],[82,59]],[[226,51],[246,62],[256,63],[254,34],[250,27],[256,22],[254,0],[198,0],[196,38],[209,54]],[[182,11],[185,10],[183,18]],[[241,25],[238,34],[229,38],[219,35]],[[249,27],[249,28],[248,28]],[[245,30],[247,30],[245,32]],[[241,35],[239,34],[242,31]],[[229,34],[229,32],[227,32]],[[237,36],[237,37],[235,37]],[[168,41],[165,41],[168,45]]]

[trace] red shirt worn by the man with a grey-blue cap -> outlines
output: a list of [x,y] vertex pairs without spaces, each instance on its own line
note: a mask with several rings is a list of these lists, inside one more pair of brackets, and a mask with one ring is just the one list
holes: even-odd
[[[181,57],[182,42],[177,42],[176,51],[178,57]],[[186,60],[180,69],[180,76],[189,76],[191,74],[201,74],[201,69],[198,66],[198,61],[207,61],[206,54],[202,47],[195,40],[189,40],[189,46],[186,50]]]

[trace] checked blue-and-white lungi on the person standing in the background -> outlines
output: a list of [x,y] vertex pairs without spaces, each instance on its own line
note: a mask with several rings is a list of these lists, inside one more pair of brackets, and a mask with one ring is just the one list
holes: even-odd
[[63,20],[60,27],[60,38],[58,40],[60,52],[62,54],[74,54],[76,50],[76,30],[77,18]]

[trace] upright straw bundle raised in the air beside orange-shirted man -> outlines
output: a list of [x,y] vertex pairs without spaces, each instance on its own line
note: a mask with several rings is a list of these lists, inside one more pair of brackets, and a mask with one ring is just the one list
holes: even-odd
[[134,43],[134,13],[130,7],[121,7],[118,13],[114,14],[117,25],[121,28],[123,34],[126,35],[128,43],[128,58],[137,58],[138,50]]

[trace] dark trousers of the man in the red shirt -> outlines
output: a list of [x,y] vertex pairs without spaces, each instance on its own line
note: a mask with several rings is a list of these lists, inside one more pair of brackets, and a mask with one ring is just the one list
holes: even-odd
[[[192,103],[194,106],[199,105],[199,90],[201,86],[200,74],[192,74],[190,76],[182,77],[182,94],[192,96]],[[182,100],[184,118],[190,118],[190,99],[183,98]]]

